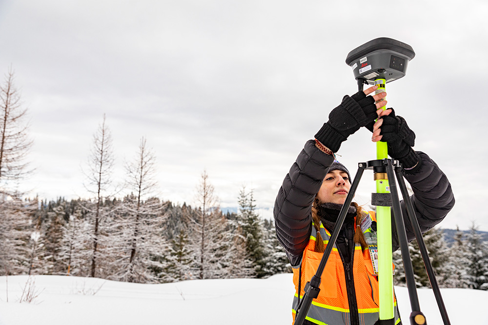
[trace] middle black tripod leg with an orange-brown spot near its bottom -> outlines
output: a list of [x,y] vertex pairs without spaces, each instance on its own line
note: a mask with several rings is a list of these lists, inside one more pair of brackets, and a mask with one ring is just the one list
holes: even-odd
[[[393,165],[391,159],[386,159],[386,174],[388,175],[391,201],[393,205],[393,214],[397,227],[398,241],[400,242],[400,249],[402,250],[402,260],[405,269],[405,277],[407,279],[408,295],[410,296],[410,305],[412,313],[410,314],[410,323],[412,325],[424,325],[425,317],[420,311],[419,297],[417,295],[417,287],[415,286],[415,278],[413,274],[412,260],[408,251],[407,231],[403,223],[402,208],[400,207],[400,199],[395,181],[395,174],[393,172]],[[417,321],[422,321],[417,323]]]

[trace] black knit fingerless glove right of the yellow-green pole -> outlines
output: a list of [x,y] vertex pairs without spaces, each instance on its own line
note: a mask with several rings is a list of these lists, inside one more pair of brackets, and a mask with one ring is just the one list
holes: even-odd
[[404,168],[419,166],[422,159],[412,149],[415,145],[415,133],[410,130],[402,116],[395,116],[395,112],[391,110],[389,115],[381,117],[381,141],[387,143],[389,156],[400,161]]

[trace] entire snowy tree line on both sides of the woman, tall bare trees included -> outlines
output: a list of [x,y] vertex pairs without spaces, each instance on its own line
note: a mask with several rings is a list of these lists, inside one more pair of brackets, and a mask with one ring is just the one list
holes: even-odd
[[[110,193],[114,166],[105,116],[93,135],[84,170],[91,198],[25,199],[19,183],[29,170],[32,141],[12,69],[0,84],[0,275],[57,274],[138,283],[258,277],[290,272],[272,221],[259,217],[253,189],[236,193],[237,213],[224,214],[206,172],[195,207],[154,195],[154,153],[141,138],[125,165],[123,189]],[[440,229],[425,242],[441,287],[488,289],[488,243],[475,225],[447,245]],[[418,287],[429,282],[416,241],[409,252]],[[405,282],[400,252],[394,253],[395,284]]]

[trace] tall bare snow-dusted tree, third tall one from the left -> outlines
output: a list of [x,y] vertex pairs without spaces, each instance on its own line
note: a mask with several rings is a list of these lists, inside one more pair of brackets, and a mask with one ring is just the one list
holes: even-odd
[[146,148],[144,138],[135,160],[126,165],[126,172],[133,192],[117,210],[118,233],[112,236],[119,239],[115,244],[118,254],[113,263],[116,272],[111,277],[126,282],[161,282],[159,273],[167,268],[164,263],[169,247],[163,236],[163,205],[159,199],[148,197],[156,187],[156,169],[154,154]]

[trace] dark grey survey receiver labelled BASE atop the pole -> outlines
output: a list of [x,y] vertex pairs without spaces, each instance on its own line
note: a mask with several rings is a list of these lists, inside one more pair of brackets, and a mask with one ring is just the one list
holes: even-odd
[[352,67],[354,78],[362,90],[363,84],[373,85],[375,79],[391,82],[405,76],[408,62],[413,57],[415,52],[410,45],[382,37],[349,52],[346,63]]

